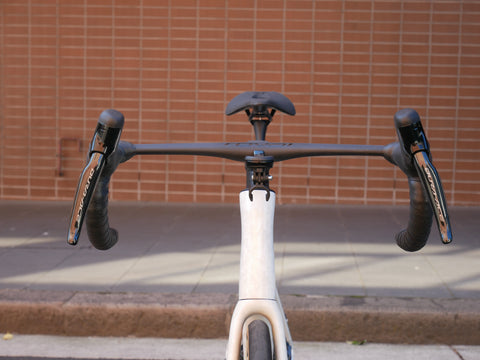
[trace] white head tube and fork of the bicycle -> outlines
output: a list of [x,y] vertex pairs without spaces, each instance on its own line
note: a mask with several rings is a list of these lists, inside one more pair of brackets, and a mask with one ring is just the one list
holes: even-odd
[[264,190],[254,190],[252,194],[253,200],[248,190],[239,196],[242,221],[239,296],[230,323],[226,359],[238,360],[242,341],[244,359],[248,359],[248,324],[260,318],[270,328],[276,359],[288,360],[287,342],[291,345],[292,338],[275,281],[275,193],[270,192],[268,201]]

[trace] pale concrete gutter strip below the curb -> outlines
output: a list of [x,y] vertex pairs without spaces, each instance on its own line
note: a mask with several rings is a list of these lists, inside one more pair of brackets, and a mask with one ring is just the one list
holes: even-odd
[[[17,335],[0,347],[2,359],[157,359],[224,360],[226,340],[96,338]],[[295,359],[301,360],[477,360],[480,346],[395,345],[296,342]]]

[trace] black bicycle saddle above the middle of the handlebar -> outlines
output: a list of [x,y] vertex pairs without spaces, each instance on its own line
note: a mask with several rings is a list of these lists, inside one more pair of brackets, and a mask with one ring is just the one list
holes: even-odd
[[295,106],[285,96],[275,91],[247,91],[235,96],[225,109],[226,115],[232,115],[250,108],[271,108],[288,115],[295,115]]

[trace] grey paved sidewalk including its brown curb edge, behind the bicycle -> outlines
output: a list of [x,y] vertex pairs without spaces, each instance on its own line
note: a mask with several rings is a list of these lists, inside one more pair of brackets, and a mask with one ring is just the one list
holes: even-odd
[[[222,338],[236,301],[238,205],[115,203],[109,251],[66,243],[68,202],[0,202],[0,331]],[[480,344],[480,208],[454,243],[393,235],[406,207],[277,206],[276,270],[295,339]],[[49,325],[50,324],[50,325]]]

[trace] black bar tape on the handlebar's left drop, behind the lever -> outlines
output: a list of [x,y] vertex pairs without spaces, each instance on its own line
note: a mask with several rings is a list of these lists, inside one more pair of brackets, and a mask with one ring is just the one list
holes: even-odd
[[108,250],[118,241],[117,230],[111,228],[108,222],[108,185],[115,169],[133,156],[133,150],[132,144],[120,141],[116,150],[108,157],[92,195],[85,223],[88,238],[98,250]]

